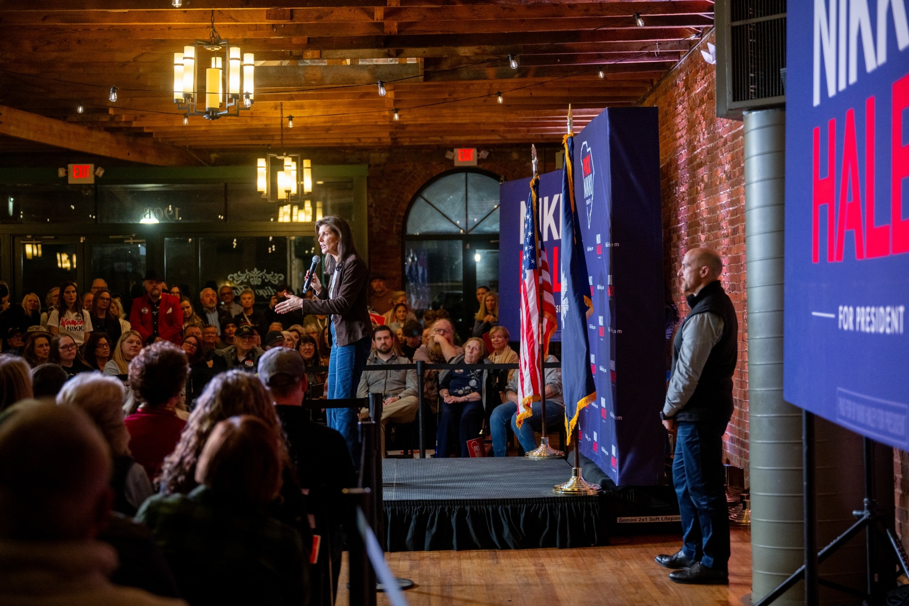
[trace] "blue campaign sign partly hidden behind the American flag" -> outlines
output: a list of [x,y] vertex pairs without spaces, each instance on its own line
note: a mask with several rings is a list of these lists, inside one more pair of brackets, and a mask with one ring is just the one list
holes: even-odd
[[[521,243],[524,238],[524,205],[530,177],[499,185],[499,324],[517,341],[521,323]],[[562,240],[562,171],[540,175],[540,232],[553,280],[555,315],[559,316],[559,246]],[[551,341],[559,341],[556,329]]]

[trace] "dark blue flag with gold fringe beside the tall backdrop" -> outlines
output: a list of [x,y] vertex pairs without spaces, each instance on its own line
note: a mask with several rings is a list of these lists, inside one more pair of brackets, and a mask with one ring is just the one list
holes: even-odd
[[587,318],[594,313],[587,281],[587,261],[581,242],[577,206],[574,204],[574,136],[564,135],[562,174],[562,392],[565,401],[565,433],[571,442],[578,414],[596,401],[596,385],[590,369]]

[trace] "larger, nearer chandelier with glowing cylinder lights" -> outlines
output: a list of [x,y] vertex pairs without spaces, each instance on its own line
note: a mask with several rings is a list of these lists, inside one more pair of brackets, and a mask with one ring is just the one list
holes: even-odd
[[[205,93],[199,91],[201,50],[215,54],[211,57],[211,67],[205,68]],[[219,56],[222,52],[224,56]],[[174,103],[186,111],[186,119],[202,115],[207,120],[217,120],[222,115],[239,115],[240,110],[252,106],[255,60],[252,53],[242,56],[241,70],[240,47],[230,45],[230,41],[218,35],[215,11],[212,11],[209,39],[196,40],[194,45],[184,46],[183,53],[174,54]]]

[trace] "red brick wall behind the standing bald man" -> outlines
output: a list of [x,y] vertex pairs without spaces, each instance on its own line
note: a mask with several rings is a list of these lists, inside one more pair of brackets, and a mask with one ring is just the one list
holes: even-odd
[[[713,42],[713,35],[698,48]],[[727,462],[748,471],[748,319],[745,313],[743,123],[716,117],[714,65],[698,50],[644,96],[660,120],[660,176],[668,292],[688,312],[675,273],[684,252],[709,246],[723,257],[723,286],[739,321],[735,412],[724,438]]]

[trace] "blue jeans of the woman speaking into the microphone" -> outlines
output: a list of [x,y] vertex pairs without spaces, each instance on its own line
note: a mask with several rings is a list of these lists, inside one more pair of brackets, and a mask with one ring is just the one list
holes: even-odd
[[[366,358],[372,348],[371,339],[364,337],[356,343],[338,345],[335,324],[331,325],[332,353],[328,358],[328,399],[355,398],[360,375],[366,367]],[[325,410],[328,426],[344,436],[347,450],[354,459],[354,467],[360,467],[359,411],[356,408],[329,408]]]

